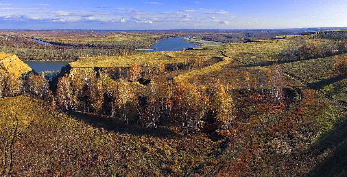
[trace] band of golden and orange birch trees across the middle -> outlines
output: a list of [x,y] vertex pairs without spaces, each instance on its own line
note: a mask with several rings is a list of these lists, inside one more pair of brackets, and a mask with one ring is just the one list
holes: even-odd
[[[200,57],[187,64],[197,66]],[[188,62],[188,63],[189,63]],[[178,69],[178,67],[176,67]],[[126,72],[124,72],[126,70]],[[169,69],[170,70],[170,69]],[[122,72],[123,71],[123,72]],[[133,64],[127,69],[109,67],[99,70],[77,69],[58,79],[55,94],[49,89],[49,81],[34,73],[16,77],[0,71],[0,97],[32,93],[63,111],[83,111],[118,116],[125,123],[138,123],[149,128],[174,125],[184,134],[202,132],[206,123],[217,122],[218,128],[230,128],[235,117],[238,94],[230,84],[213,78],[204,88],[198,78],[193,82],[174,79],[159,85],[151,81],[145,95],[137,95],[131,82],[138,78],[163,74],[165,66],[159,61],[155,66]],[[151,73],[151,74],[150,74]],[[246,95],[260,93],[281,104],[282,74],[278,64],[271,71],[260,72],[252,78],[243,73],[242,89]],[[213,118],[213,120],[211,120]]]

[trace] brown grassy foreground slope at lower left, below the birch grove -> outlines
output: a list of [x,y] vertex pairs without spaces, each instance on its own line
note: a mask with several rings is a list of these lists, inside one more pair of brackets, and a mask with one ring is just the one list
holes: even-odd
[[1,139],[9,137],[12,118],[19,122],[10,174],[188,175],[200,173],[201,165],[221,151],[222,142],[199,135],[186,137],[168,128],[149,130],[107,116],[73,114],[55,113],[30,95],[0,99]]

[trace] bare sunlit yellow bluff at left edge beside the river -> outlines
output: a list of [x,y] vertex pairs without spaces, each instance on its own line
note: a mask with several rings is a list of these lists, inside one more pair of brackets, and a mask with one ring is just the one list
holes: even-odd
[[9,54],[0,52],[0,69],[7,73],[14,73],[16,76],[20,76],[23,73],[32,71],[30,66],[22,62],[16,54]]

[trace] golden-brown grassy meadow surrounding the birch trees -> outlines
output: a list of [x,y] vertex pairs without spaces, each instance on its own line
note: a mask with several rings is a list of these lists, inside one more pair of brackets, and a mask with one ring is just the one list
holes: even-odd
[[[333,73],[333,56],[293,62],[282,60],[282,50],[290,47],[291,41],[308,45],[311,41],[319,41],[322,46],[329,47],[339,45],[336,40],[311,39],[312,36],[287,36],[279,40],[195,47],[186,51],[81,57],[70,63],[76,71],[79,68],[93,71],[94,67],[107,71],[110,67],[121,67],[128,80],[134,66],[147,62],[159,73],[158,68],[164,65],[163,73],[141,75],[141,79],[157,84],[154,97],[161,102],[169,99],[168,81],[181,81],[183,88],[196,87],[199,94],[208,93],[211,99],[214,98],[214,84],[227,85],[234,104],[231,126],[228,129],[219,127],[213,102],[206,113],[203,131],[186,134],[175,119],[169,124],[147,128],[141,126],[139,118],[127,124],[119,114],[112,116],[107,111],[64,111],[64,106],[54,110],[51,102],[33,94],[5,97],[0,99],[0,135],[4,145],[0,147],[4,149],[1,152],[5,159],[0,161],[1,175],[344,176],[347,109],[318,94],[312,87],[347,101],[346,77]],[[199,57],[202,64],[186,66],[189,65],[187,60]],[[283,74],[283,101],[273,101],[270,87],[265,87],[262,95],[258,85],[260,74],[269,74],[273,69],[271,65],[276,62],[281,71],[297,76],[311,87]],[[177,69],[169,68],[172,63]],[[251,93],[247,93],[245,73],[254,83]],[[75,80],[78,79],[72,79],[70,85],[77,85]],[[89,96],[98,89],[95,83],[103,82],[100,78],[92,81],[81,87],[91,90],[83,92],[81,101],[92,102]],[[115,79],[114,82],[120,81]],[[140,80],[129,84],[139,100],[137,108],[151,108],[147,99],[154,86],[145,86]],[[175,87],[180,89],[179,84]],[[172,95],[172,99],[177,97]],[[109,99],[106,95],[103,98],[104,103]],[[164,110],[164,104],[159,108]],[[107,106],[101,104],[101,110],[106,109]]]

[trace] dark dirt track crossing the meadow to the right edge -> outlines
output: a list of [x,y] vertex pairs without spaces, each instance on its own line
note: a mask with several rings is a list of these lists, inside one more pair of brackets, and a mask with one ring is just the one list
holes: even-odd
[[[223,56],[228,57],[228,56],[226,56],[226,55],[222,52],[222,50],[220,50],[220,53],[221,53]],[[228,57],[228,58],[231,58],[231,57]],[[235,58],[231,58],[231,59],[234,59],[235,61],[237,61],[237,62],[239,62],[239,63],[243,63],[243,64],[245,64],[245,65],[259,66],[259,67],[268,68],[268,67],[261,66],[261,65],[249,64],[249,63],[241,62],[240,60],[237,60],[237,59],[235,59]],[[299,81],[300,83],[304,84],[305,86],[311,88],[312,90],[317,91],[320,95],[326,97],[327,99],[331,100],[332,102],[335,102],[335,103],[337,103],[337,104],[339,104],[339,105],[341,105],[341,106],[347,107],[347,103],[345,103],[345,102],[343,102],[343,101],[340,101],[340,100],[337,100],[337,99],[331,97],[330,95],[328,95],[328,94],[326,94],[326,93],[320,91],[319,89],[317,89],[317,88],[311,86],[309,83],[307,83],[306,81],[302,80],[301,78],[296,77],[295,75],[290,74],[290,73],[288,73],[288,72],[282,72],[282,73],[287,74],[287,75],[290,76],[290,77],[293,77],[295,80],[297,80],[297,81]]]

